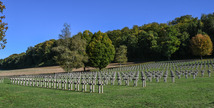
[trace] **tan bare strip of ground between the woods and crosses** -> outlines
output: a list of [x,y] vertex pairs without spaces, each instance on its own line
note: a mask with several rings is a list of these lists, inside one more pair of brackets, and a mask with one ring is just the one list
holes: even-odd
[[[133,62],[128,62],[123,66],[136,64]],[[118,63],[111,63],[107,68],[119,67]],[[92,70],[95,68],[89,67],[86,70]],[[73,71],[83,71],[83,68],[73,69]],[[60,66],[50,66],[50,67],[38,67],[38,68],[27,68],[27,69],[16,69],[16,70],[0,70],[0,76],[13,76],[13,75],[36,75],[36,74],[51,74],[51,73],[63,73],[65,72]]]

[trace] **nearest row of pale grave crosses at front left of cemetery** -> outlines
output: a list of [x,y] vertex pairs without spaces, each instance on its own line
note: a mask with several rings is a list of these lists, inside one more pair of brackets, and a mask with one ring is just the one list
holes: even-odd
[[87,92],[87,85],[89,85],[89,92],[95,92],[95,85],[98,85],[98,93],[103,93],[103,81],[96,80],[87,82],[85,80],[70,80],[70,79],[55,79],[55,78],[10,78],[14,85],[35,86],[52,89],[74,90],[80,91],[82,85],[82,92]]

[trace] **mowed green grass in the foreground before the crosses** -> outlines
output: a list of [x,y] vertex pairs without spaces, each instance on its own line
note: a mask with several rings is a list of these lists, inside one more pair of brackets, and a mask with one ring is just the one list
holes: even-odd
[[[124,108],[124,107],[214,107],[214,77],[181,78],[171,83],[147,82],[147,87],[106,85],[104,93],[83,93],[0,84],[1,108]],[[81,87],[81,86],[80,86]],[[97,88],[96,88],[97,91]]]

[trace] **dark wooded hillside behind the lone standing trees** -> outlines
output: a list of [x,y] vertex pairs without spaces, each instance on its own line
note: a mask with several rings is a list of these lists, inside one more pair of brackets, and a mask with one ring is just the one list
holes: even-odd
[[[75,36],[86,41],[87,44],[84,47],[86,56],[90,55],[91,50],[96,52],[96,48],[102,47],[102,45],[94,48],[88,47],[91,41],[99,40],[99,37],[92,37],[99,35],[100,37],[107,36],[105,38],[110,39],[107,43],[112,44],[114,49],[121,45],[127,46],[128,61],[151,61],[199,58],[199,56],[194,56],[190,47],[190,40],[197,34],[207,34],[212,42],[214,41],[214,13],[203,14],[201,18],[185,15],[167,23],[154,22],[142,26],[134,25],[131,29],[124,27],[121,30],[107,31],[106,33],[100,31],[92,33],[85,30]],[[101,38],[101,40],[103,39]],[[53,48],[60,45],[59,41],[60,39],[48,40],[34,47],[29,47],[24,53],[13,54],[2,59],[0,60],[0,68],[16,69],[58,65],[56,62],[58,54]],[[113,51],[111,54],[115,54],[115,52]],[[213,57],[213,54],[210,57]],[[86,57],[85,59],[88,59],[87,63],[84,63],[85,66],[93,66],[92,58]],[[112,57],[109,58],[109,62],[114,62]]]

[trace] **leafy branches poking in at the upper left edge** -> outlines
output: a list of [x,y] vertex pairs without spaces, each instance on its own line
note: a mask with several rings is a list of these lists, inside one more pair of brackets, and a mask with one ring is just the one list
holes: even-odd
[[[3,10],[5,9],[5,5],[0,1],[0,12],[3,14]],[[5,16],[0,16],[0,49],[5,48],[6,39],[5,39],[5,32],[7,31],[7,23],[4,23],[2,20]]]

